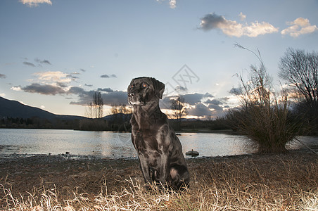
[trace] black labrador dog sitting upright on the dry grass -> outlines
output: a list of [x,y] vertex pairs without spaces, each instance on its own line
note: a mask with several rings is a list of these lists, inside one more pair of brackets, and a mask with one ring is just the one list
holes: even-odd
[[189,186],[181,143],[159,108],[165,84],[152,77],[138,77],[132,79],[127,91],[129,104],[134,107],[132,143],[146,183],[176,190]]

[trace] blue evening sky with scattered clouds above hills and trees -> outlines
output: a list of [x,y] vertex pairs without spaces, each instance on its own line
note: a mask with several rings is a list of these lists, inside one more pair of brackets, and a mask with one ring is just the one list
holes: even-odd
[[274,84],[288,47],[318,51],[317,0],[1,0],[0,96],[84,115],[95,91],[127,104],[135,77],[182,95],[189,117],[237,106],[239,79],[259,61]]

